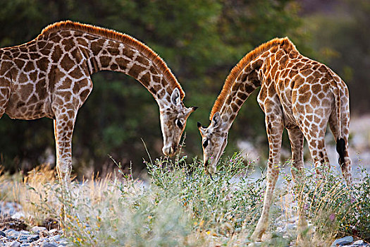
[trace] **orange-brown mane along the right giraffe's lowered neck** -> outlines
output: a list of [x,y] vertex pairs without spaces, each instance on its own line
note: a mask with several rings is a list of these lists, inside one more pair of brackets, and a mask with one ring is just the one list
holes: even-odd
[[[211,114],[209,116],[209,120],[212,120],[212,117],[216,112],[221,110],[221,107],[223,103],[226,100],[226,97],[228,96],[228,92],[230,91],[231,87],[233,86],[233,83],[238,78],[240,72],[249,64],[250,61],[257,58],[257,56],[261,55],[262,53],[266,52],[266,50],[270,49],[271,47],[274,47],[279,44],[288,44],[288,47],[291,47],[290,40],[288,37],[284,38],[275,38],[273,40],[270,40],[269,42],[266,42],[264,44],[261,44],[259,47],[252,50],[252,52],[247,53],[239,62],[237,65],[234,66],[234,68],[230,71],[228,74],[228,77],[225,80],[225,83],[223,84],[223,88],[218,95],[216,101],[214,102],[214,107],[211,109]],[[292,44],[294,47],[294,44]]]

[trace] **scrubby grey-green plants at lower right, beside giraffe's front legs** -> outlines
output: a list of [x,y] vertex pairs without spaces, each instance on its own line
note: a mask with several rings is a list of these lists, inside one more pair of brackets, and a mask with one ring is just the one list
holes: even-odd
[[[316,169],[305,169],[304,184],[296,185],[292,193],[296,212],[304,210],[309,222],[314,227],[313,236],[304,234],[319,243],[329,244],[335,237],[357,236],[369,241],[370,229],[370,175],[365,169],[355,171],[360,178],[354,179],[351,188],[347,188],[342,174],[335,169],[327,169],[320,177]],[[291,180],[288,176],[288,181]]]

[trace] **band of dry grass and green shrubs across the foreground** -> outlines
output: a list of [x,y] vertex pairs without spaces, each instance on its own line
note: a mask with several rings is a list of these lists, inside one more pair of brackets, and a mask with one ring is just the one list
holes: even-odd
[[[240,155],[228,159],[211,181],[195,160],[156,159],[147,163],[149,183],[132,179],[132,174],[92,176],[74,181],[71,193],[62,197],[54,169],[47,166],[21,174],[0,176],[2,200],[23,206],[25,220],[41,224],[60,218],[66,206],[66,234],[75,246],[245,246],[261,213],[264,176],[252,181],[245,173]],[[369,174],[356,183],[351,203],[338,174],[318,182],[314,169],[299,188],[285,176],[286,185],[276,191],[271,207],[271,224],[264,246],[287,246],[297,237],[290,219],[304,202],[311,223],[299,246],[328,246],[333,239],[368,232]],[[237,177],[238,179],[235,179]],[[367,194],[366,194],[367,193]],[[298,202],[298,203],[297,203]],[[365,204],[364,204],[365,203]],[[367,211],[366,211],[367,210]],[[361,219],[360,224],[356,221]],[[285,227],[284,231],[278,227]]]

